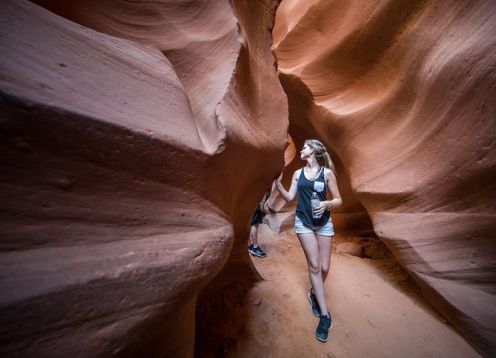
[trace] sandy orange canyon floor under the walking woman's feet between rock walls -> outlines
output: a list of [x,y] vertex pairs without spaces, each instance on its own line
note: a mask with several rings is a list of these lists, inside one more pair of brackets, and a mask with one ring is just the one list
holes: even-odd
[[[329,341],[318,342],[296,235],[292,230],[276,234],[265,224],[259,231],[268,257],[253,261],[264,280],[245,299],[247,321],[232,356],[480,357],[433,311],[377,239],[340,235],[334,238],[325,283],[334,326]],[[365,257],[350,254],[358,254],[364,243],[369,245]]]

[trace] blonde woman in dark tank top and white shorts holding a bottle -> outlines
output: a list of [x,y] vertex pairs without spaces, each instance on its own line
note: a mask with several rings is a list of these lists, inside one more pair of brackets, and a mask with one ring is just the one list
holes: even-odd
[[[315,336],[319,341],[326,342],[332,328],[332,318],[327,309],[324,291],[334,237],[329,211],[341,206],[342,200],[336,183],[334,165],[324,145],[315,139],[305,141],[300,158],[306,160],[307,164],[293,174],[289,191],[284,189],[281,177],[276,180],[276,187],[286,201],[293,200],[298,194],[295,229],[305,252],[312,285],[308,298],[314,315],[320,316]],[[327,200],[327,189],[331,200]],[[320,203],[312,209],[311,197],[314,192]]]

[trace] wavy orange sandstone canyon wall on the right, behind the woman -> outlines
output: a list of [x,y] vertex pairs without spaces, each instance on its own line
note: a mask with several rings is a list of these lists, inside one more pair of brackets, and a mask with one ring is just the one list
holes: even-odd
[[427,299],[496,355],[496,6],[290,1],[274,26],[290,133],[337,154]]

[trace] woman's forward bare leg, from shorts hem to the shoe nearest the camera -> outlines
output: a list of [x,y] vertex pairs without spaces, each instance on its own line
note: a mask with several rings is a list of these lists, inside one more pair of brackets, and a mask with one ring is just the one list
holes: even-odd
[[328,315],[327,304],[325,301],[324,281],[322,280],[321,259],[319,255],[319,244],[315,234],[297,234],[300,244],[303,247],[303,252],[307,259],[308,275],[312,284],[313,292],[317,297],[317,302],[320,307],[320,314]]

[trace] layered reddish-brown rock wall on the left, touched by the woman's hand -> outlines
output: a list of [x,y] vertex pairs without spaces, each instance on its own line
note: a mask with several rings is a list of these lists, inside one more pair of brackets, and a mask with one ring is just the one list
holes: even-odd
[[0,352],[191,356],[283,167],[274,2],[40,3],[0,4]]

